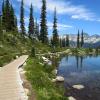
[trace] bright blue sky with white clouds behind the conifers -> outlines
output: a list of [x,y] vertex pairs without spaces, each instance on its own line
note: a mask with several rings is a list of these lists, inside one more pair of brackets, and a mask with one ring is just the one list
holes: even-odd
[[[10,0],[13,4],[20,26],[20,2]],[[24,0],[25,27],[28,30],[30,4],[34,6],[34,18],[40,23],[41,0]],[[93,35],[100,34],[100,0],[46,0],[48,33],[52,35],[54,8],[57,10],[58,33],[77,34],[78,29]],[[2,0],[0,0],[0,6]]]

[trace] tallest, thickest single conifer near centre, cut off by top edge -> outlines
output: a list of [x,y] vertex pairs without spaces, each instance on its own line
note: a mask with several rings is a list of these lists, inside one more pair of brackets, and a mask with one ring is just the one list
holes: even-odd
[[47,31],[47,20],[46,20],[46,0],[42,0],[41,8],[41,22],[40,22],[40,40],[42,43],[48,43],[48,31]]

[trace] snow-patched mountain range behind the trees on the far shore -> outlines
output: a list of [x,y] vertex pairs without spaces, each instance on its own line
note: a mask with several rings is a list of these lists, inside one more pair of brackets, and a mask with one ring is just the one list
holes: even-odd
[[[65,38],[66,35],[61,36],[61,38]],[[70,46],[76,47],[77,43],[77,35],[76,34],[69,34]],[[81,41],[81,38],[80,38]],[[98,48],[100,47],[100,35],[88,35],[87,33],[84,34],[84,46],[85,48],[93,47]]]

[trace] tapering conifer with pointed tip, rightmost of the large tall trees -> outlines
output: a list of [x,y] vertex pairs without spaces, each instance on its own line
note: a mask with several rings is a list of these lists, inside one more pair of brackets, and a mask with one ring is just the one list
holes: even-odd
[[57,16],[56,16],[56,8],[54,11],[54,22],[53,22],[53,46],[59,46],[59,35],[57,31]]

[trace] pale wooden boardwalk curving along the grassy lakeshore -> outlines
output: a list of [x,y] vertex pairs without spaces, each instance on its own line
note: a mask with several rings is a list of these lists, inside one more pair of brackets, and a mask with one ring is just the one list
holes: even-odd
[[0,100],[27,100],[18,71],[27,58],[23,55],[0,68]]

